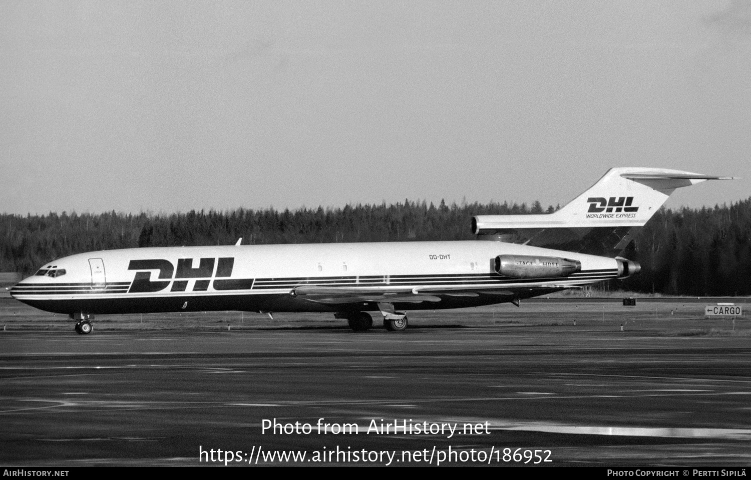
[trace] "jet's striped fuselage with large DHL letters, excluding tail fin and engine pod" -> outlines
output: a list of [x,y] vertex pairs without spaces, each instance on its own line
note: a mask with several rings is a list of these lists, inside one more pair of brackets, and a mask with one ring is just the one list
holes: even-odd
[[[511,278],[494,271],[499,255],[577,260],[581,271]],[[619,260],[607,257],[484,241],[134,248],[55,260],[11,295],[60,314],[378,311],[379,302],[432,310],[512,302],[620,274]]]

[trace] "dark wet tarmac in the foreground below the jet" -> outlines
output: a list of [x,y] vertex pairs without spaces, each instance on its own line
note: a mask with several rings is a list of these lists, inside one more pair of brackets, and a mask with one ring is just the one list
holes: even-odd
[[[0,332],[0,463],[751,463],[748,336],[621,332],[593,315],[401,333]],[[306,457],[279,458],[291,451]]]

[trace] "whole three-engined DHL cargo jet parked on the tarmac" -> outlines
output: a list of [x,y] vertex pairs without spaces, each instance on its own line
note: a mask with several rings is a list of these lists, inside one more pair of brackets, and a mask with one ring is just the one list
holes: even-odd
[[[464,308],[626,278],[618,257],[677,187],[729,179],[614,168],[551,214],[478,215],[478,240],[133,248],[54,260],[11,289],[92,331],[95,314],[332,312],[351,329],[407,327],[407,310]],[[488,241],[490,240],[490,241]],[[240,242],[238,242],[239,244]]]

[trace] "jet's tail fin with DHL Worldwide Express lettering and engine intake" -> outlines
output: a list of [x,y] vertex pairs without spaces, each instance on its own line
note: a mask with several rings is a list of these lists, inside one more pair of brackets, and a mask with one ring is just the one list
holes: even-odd
[[617,257],[676,188],[732,178],[661,168],[612,168],[554,213],[476,215],[472,232],[480,239]]

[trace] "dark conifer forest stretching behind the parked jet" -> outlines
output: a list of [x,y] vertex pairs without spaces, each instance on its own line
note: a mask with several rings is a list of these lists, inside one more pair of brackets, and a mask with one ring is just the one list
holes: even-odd
[[[0,214],[0,272],[29,275],[86,251],[157,246],[472,240],[475,214],[551,213],[556,207],[410,201],[344,208],[174,214]],[[714,208],[661,208],[624,257],[641,273],[609,290],[686,296],[751,295],[751,197]]]

